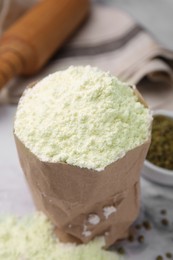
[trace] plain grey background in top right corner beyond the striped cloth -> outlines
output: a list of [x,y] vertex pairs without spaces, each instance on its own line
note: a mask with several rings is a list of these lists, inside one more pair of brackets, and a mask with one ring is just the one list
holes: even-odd
[[165,47],[173,50],[173,2],[171,0],[93,0],[127,11]]

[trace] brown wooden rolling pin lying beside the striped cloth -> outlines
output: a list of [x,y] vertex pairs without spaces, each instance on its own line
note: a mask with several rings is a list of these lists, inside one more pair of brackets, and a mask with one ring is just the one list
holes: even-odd
[[44,0],[0,39],[0,89],[16,75],[36,73],[74,32],[89,0]]

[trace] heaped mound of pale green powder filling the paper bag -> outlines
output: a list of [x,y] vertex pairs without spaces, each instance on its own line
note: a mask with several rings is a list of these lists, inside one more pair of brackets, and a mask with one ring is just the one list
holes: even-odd
[[42,161],[100,171],[144,143],[150,123],[127,84],[97,68],[72,66],[25,91],[14,129]]

